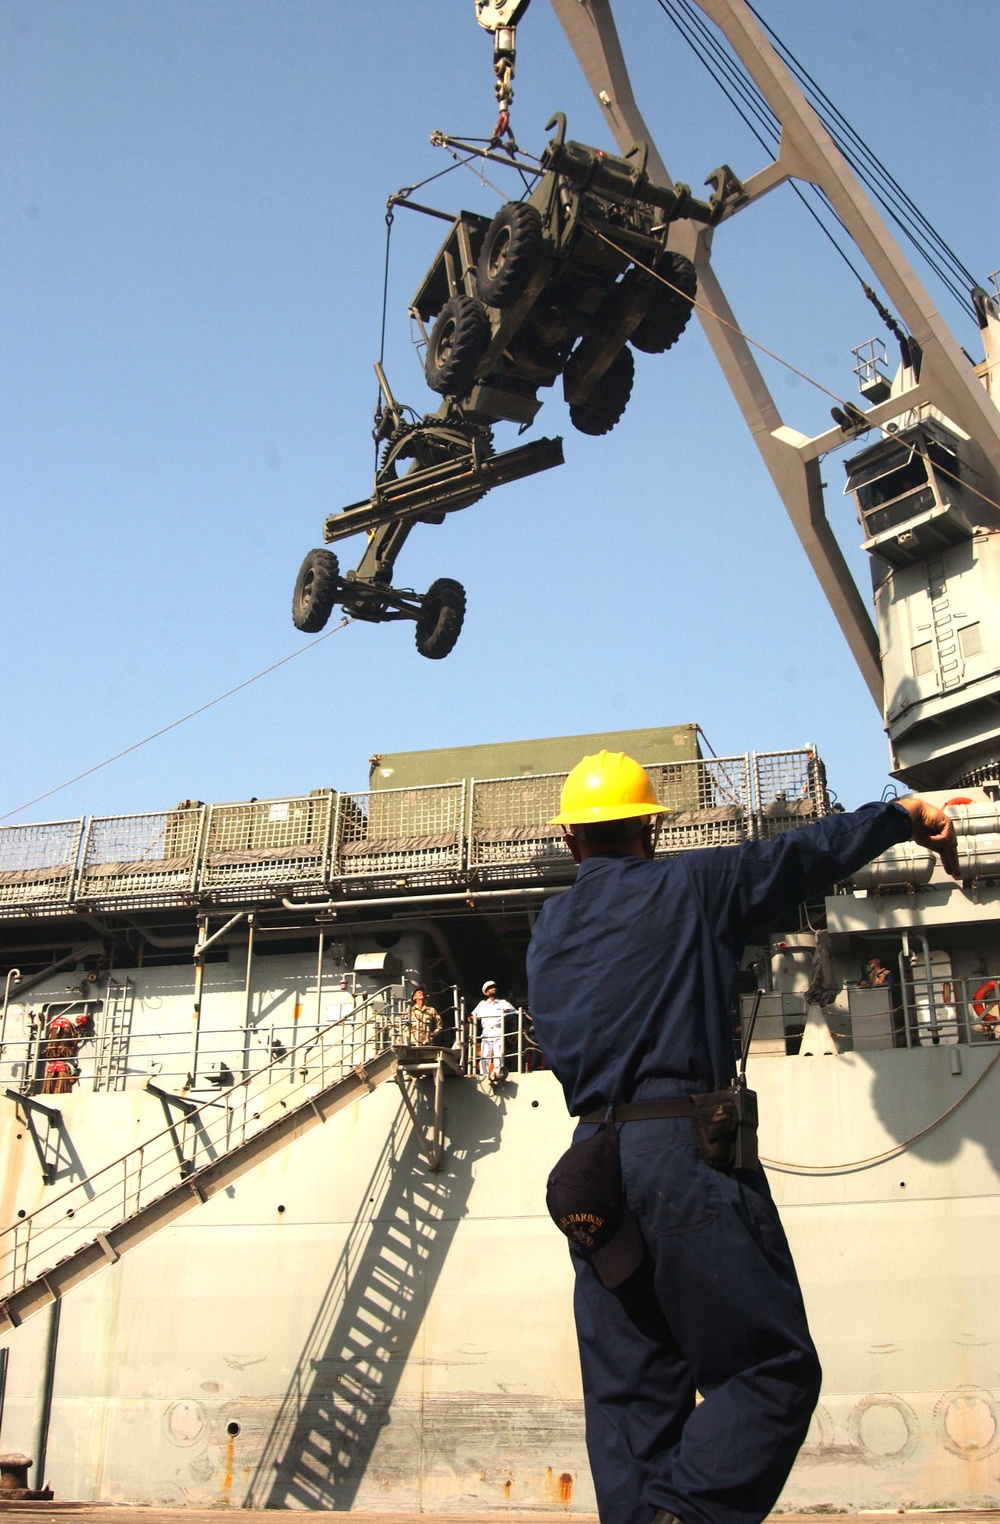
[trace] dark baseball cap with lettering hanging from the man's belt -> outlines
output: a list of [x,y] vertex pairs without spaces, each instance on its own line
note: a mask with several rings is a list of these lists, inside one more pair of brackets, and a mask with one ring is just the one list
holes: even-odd
[[639,1269],[645,1244],[622,1189],[617,1131],[601,1123],[573,1143],[549,1175],[549,1216],[582,1250],[605,1286],[620,1286]]

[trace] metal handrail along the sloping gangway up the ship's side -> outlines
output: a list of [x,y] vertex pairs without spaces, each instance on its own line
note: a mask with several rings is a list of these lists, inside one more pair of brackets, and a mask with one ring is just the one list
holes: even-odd
[[[375,992],[355,1007],[351,1023],[329,1023],[290,1049],[280,1062],[268,1061],[207,1100],[171,1093],[162,1084],[149,1085],[169,1117],[160,1132],[91,1175],[73,1180],[0,1231],[0,1298],[52,1269],[84,1244],[99,1241],[102,1233],[151,1205],[178,1181],[308,1103],[317,1091],[355,1071],[363,1076],[364,1065],[392,1045],[386,1027],[389,1000],[389,991]],[[21,1103],[30,1125],[30,1105]],[[35,1123],[35,1135],[41,1140],[40,1151],[50,1151],[49,1180],[58,1184],[75,1172],[76,1163],[67,1148],[58,1097],[46,1099],[46,1108],[55,1119],[47,1123],[49,1137],[43,1137],[41,1123]]]

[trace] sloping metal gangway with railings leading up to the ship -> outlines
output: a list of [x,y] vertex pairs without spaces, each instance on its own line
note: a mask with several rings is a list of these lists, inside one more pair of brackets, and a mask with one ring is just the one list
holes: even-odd
[[[444,1079],[462,1074],[459,1055],[387,1044],[389,994],[372,994],[349,1020],[338,1017],[312,1032],[280,1064],[268,1061],[224,1096],[192,1102],[148,1087],[162,1102],[174,1099],[180,1119],[171,1117],[160,1132],[0,1231],[0,1334],[116,1263],[386,1079],[399,1085],[428,1170],[439,1170]],[[427,1131],[419,1116],[421,1079],[433,1079]],[[9,1094],[18,1102],[29,1099]]]

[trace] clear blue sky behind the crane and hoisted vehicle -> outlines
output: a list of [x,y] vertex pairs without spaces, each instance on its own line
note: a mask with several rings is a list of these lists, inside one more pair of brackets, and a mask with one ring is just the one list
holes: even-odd
[[[985,283],[995,5],[759,8]],[[619,11],[675,178],[761,168],[655,0]],[[611,149],[546,0],[518,44],[523,146],[564,110]],[[0,814],[305,645],[299,562],[370,488],[386,197],[445,168],[434,128],[494,117],[473,0],[3,0]],[[468,171],[422,195],[500,204]],[[386,366],[421,411],[407,305],[441,227],[393,229]],[[790,190],[726,224],[715,262],[752,335],[854,395],[851,346],[887,335]],[[788,422],[826,427],[828,398],[768,379]],[[846,805],[877,797],[880,718],[698,326],[637,357],[605,439],[544,395],[534,434],[564,434],[567,465],[415,532],[398,562],[404,585],[466,585],[451,657],[419,657],[410,623],[355,623],[15,818],[357,789],[375,751],[689,721],[720,754],[816,742]],[[866,587],[838,460],[826,479]]]

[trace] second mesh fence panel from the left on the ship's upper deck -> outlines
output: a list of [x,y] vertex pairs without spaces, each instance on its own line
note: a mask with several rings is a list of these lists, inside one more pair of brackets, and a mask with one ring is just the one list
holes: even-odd
[[76,898],[91,905],[177,904],[198,870],[204,805],[90,821]]

